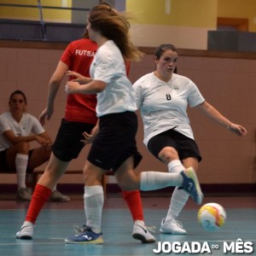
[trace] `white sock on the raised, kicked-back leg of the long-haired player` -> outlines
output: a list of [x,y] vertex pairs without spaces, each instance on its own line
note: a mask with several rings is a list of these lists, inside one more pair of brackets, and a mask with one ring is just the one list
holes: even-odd
[[143,191],[181,186],[183,177],[178,173],[142,172],[140,189]]

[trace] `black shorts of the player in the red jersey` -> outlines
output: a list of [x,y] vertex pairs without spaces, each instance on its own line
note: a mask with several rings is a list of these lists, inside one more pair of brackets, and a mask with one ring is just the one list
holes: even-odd
[[83,132],[90,133],[95,125],[61,120],[61,126],[52,145],[52,152],[61,161],[69,162],[79,156],[84,143]]

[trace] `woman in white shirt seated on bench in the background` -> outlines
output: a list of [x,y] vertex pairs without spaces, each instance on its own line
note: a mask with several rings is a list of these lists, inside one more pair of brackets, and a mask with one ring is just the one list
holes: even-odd
[[[26,172],[33,170],[49,160],[51,138],[32,114],[26,113],[26,96],[15,90],[9,97],[9,111],[0,115],[0,172],[16,171],[17,199],[31,201],[32,195],[26,188]],[[40,147],[31,149],[31,142]],[[69,201],[66,195],[53,190],[52,201]]]

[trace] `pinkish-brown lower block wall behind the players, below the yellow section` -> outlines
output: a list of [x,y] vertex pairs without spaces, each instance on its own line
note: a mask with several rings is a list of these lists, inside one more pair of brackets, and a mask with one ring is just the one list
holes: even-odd
[[[26,42],[3,45],[0,41],[0,109],[8,109],[9,95],[13,90],[24,90],[28,98],[28,111],[35,116],[45,107],[48,82],[54,72],[62,50],[66,45]],[[29,48],[26,48],[28,47]],[[143,61],[133,63],[130,79],[134,82],[145,73],[154,70],[153,49],[147,52]],[[199,50],[179,50],[178,73],[188,76],[198,85],[203,96],[224,113],[232,122],[247,128],[246,137],[236,137],[202,115],[197,109],[189,109],[195,138],[201,148],[203,160],[200,165],[201,183],[255,183],[255,109],[256,109],[256,55],[236,53],[209,53]],[[65,82],[55,101],[55,113],[45,126],[51,137],[55,137],[60,125],[66,102]],[[143,127],[140,123],[137,134],[138,148],[143,162],[138,170],[165,171],[160,161],[148,153],[143,145]],[[84,166],[89,148],[84,148],[78,160],[69,169],[78,170]],[[39,169],[44,169],[40,166]],[[114,178],[110,179],[115,183]],[[0,183],[16,183],[14,175],[0,176]],[[61,183],[81,183],[81,177],[68,175]]]

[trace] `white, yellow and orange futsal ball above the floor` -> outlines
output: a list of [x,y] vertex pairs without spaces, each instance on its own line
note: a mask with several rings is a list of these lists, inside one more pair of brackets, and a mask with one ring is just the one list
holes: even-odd
[[204,230],[215,231],[223,227],[227,215],[221,205],[207,203],[199,209],[197,218]]

